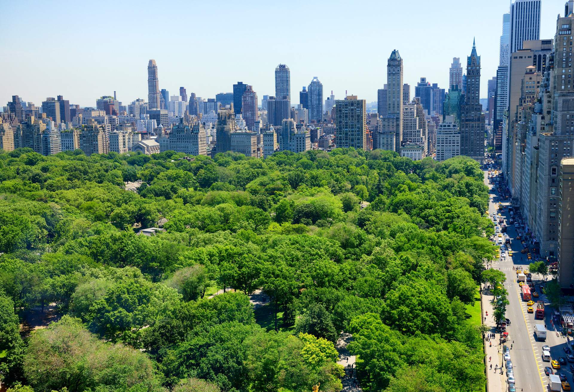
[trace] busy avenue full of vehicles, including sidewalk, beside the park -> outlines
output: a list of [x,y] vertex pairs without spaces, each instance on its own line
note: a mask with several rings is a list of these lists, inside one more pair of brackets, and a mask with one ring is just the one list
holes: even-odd
[[[571,317],[574,324],[574,313],[569,306],[550,307],[545,294],[548,275],[529,271],[530,263],[540,261],[536,242],[524,232],[524,222],[518,209],[513,208],[502,174],[495,164],[487,166],[487,214],[495,226],[491,241],[497,247],[497,257],[486,267],[506,275],[509,300],[506,322],[499,325],[494,322],[494,312],[487,315],[483,309],[484,323],[491,327],[487,332],[490,343],[486,345],[489,390],[499,390],[502,385],[502,390],[509,392],[569,391],[574,382],[574,347],[572,339],[561,333],[561,323],[568,323]],[[490,344],[497,348],[496,361],[489,354]]]

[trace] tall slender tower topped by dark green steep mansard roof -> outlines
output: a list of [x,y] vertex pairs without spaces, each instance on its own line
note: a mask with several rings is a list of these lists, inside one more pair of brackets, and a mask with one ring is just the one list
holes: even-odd
[[387,114],[394,116],[397,121],[395,126],[396,152],[400,151],[402,144],[402,106],[404,105],[402,67],[401,55],[395,49],[387,61]]

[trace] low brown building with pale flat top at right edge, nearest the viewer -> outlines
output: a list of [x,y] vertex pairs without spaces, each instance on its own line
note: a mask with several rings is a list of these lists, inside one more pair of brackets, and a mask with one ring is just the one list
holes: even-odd
[[574,158],[560,161],[558,204],[558,282],[561,288],[574,287]]

